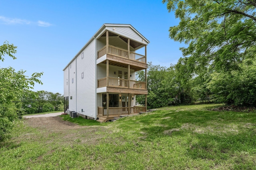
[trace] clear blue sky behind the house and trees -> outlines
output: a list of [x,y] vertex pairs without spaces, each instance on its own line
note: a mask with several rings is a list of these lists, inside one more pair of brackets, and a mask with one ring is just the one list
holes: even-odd
[[104,23],[131,24],[150,41],[147,61],[169,67],[182,57],[184,44],[169,38],[178,25],[162,0],[0,0],[0,44],[17,48],[16,60],[0,67],[44,72],[34,91],[63,94],[63,68]]

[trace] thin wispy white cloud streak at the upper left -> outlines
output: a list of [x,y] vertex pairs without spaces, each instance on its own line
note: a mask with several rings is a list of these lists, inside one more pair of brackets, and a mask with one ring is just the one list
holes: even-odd
[[22,19],[18,19],[18,18],[7,18],[4,16],[0,16],[0,23],[4,23],[4,24],[33,24],[33,25],[38,25],[40,27],[50,27],[52,24],[45,22],[45,21],[37,21],[37,22],[32,22],[32,21],[28,21],[28,20],[22,20]]

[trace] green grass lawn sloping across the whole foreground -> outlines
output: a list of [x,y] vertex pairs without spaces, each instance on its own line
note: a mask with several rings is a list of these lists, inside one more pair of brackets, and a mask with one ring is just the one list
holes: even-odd
[[102,124],[64,115],[66,129],[26,119],[0,143],[0,169],[256,169],[256,113],[214,107],[164,107]]

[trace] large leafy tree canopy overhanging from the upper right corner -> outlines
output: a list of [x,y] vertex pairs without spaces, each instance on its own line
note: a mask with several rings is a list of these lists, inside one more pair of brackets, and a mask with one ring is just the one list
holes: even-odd
[[180,19],[170,38],[188,44],[180,48],[198,74],[208,67],[240,70],[256,55],[256,0],[163,0]]

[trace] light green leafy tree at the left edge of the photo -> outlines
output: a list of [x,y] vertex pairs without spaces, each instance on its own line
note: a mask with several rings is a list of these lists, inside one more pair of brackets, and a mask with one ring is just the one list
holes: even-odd
[[[13,59],[16,53],[16,46],[4,43],[0,46],[0,60],[3,56],[9,55]],[[12,129],[14,122],[22,116],[23,110],[20,104],[22,97],[34,94],[30,89],[36,83],[42,84],[38,79],[42,73],[33,73],[28,77],[24,70],[16,72],[14,68],[0,68],[0,140]]]

